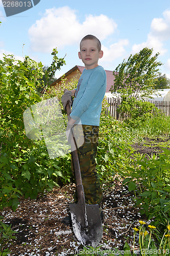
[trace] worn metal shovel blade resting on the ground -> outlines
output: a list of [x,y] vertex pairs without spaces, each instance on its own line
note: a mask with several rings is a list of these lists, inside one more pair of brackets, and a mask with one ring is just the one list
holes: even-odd
[[69,207],[72,229],[77,240],[83,246],[98,246],[103,235],[99,205],[85,204],[86,216],[83,216],[82,205],[79,202],[77,204],[70,203]]

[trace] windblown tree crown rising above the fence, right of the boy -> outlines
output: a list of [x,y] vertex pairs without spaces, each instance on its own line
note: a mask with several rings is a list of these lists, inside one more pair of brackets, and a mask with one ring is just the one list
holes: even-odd
[[159,53],[152,56],[153,49],[143,48],[139,53],[128,58],[113,71],[114,84],[110,91],[118,93],[121,98],[143,98],[151,96],[155,89],[155,77],[161,62],[157,61]]

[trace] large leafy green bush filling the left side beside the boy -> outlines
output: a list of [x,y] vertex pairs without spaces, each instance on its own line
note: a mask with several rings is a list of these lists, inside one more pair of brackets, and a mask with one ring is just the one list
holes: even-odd
[[63,172],[68,157],[50,160],[44,141],[30,140],[25,133],[23,112],[41,101],[37,90],[43,74],[41,62],[29,57],[20,61],[4,55],[0,60],[0,209],[15,210],[20,196],[36,198],[57,185],[58,177],[65,179],[62,173],[68,174],[68,169]]

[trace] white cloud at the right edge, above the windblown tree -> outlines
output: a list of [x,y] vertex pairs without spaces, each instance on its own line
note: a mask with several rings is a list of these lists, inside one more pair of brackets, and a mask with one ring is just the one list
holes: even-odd
[[151,23],[151,30],[147,41],[138,45],[133,45],[133,53],[139,52],[144,47],[153,48],[154,54],[159,52],[164,55],[167,49],[164,47],[164,41],[170,39],[170,10],[163,12],[163,18],[154,18]]

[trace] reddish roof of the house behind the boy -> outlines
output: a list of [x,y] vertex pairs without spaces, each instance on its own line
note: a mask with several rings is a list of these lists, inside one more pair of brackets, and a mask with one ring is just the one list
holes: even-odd
[[[67,75],[69,75],[70,73],[72,73],[73,71],[75,71],[76,69],[79,69],[80,73],[82,73],[83,70],[85,69],[85,67],[76,65],[74,68],[70,69],[69,71],[67,71],[67,72],[65,73],[65,77],[66,77]],[[106,77],[107,77],[106,93],[108,93],[109,90],[110,90],[110,87],[113,85],[114,76],[113,76],[113,71],[105,70],[105,72],[106,72]],[[55,81],[55,83],[59,82],[60,80],[61,80],[61,77],[58,78],[58,79]],[[53,84],[54,84],[54,83],[53,83]],[[51,85],[53,85],[53,84],[51,84]]]

